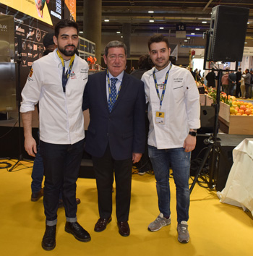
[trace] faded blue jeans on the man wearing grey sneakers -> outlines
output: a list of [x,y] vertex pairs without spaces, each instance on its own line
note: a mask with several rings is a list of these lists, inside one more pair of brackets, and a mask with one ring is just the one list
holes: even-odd
[[158,193],[158,207],[163,216],[171,216],[171,192],[169,184],[170,168],[173,170],[173,179],[176,184],[176,212],[177,221],[189,219],[189,171],[191,153],[184,148],[171,148],[158,150],[148,146],[150,161],[156,179]]

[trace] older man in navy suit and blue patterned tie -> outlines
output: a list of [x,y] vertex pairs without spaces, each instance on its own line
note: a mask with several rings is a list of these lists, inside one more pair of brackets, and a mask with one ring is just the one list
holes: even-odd
[[103,58],[108,69],[89,76],[83,101],[83,110],[90,110],[85,150],[92,155],[98,188],[100,218],[94,230],[103,231],[111,222],[114,173],[119,234],[129,236],[132,163],[145,149],[144,85],[124,72],[124,43],[108,43]]

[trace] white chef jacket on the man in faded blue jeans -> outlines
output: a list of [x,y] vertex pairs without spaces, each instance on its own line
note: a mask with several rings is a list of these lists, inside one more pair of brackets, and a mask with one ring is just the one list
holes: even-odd
[[[200,128],[200,94],[192,74],[184,68],[172,65],[161,111],[165,112],[165,124],[155,123],[155,112],[160,110],[160,99],[155,88],[153,71],[158,82],[160,96],[166,72],[171,64],[158,71],[153,67],[142,75],[145,83],[150,129],[147,144],[158,149],[181,148],[189,129]],[[159,86],[160,85],[160,86]]]

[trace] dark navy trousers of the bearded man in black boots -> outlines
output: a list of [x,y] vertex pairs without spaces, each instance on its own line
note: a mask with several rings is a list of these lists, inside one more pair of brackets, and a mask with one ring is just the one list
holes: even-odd
[[45,174],[43,202],[47,222],[57,219],[60,191],[67,221],[73,222],[77,218],[76,182],[84,144],[85,140],[73,145],[51,144],[40,140]]

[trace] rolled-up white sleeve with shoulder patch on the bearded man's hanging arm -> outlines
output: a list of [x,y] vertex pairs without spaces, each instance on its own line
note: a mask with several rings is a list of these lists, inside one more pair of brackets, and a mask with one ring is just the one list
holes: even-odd
[[20,112],[34,111],[35,105],[40,98],[40,88],[42,84],[41,70],[37,61],[33,62],[30,73],[27,77],[25,87],[22,90],[22,103]]

